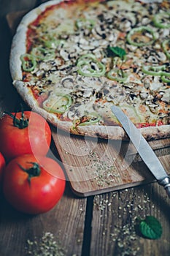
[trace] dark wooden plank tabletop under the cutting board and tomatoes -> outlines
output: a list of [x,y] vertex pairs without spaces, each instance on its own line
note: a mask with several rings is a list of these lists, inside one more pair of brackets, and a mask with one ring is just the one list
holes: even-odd
[[[6,15],[31,9],[40,1],[1,2],[0,111],[14,111],[18,110],[22,100],[12,87],[9,73],[12,36]],[[58,157],[54,143],[51,149]],[[54,240],[63,248],[63,255],[68,256],[170,255],[170,200],[157,183],[77,197],[67,182],[66,191],[55,208],[37,216],[15,211],[2,193],[0,200],[1,256],[28,255],[28,240],[37,241],[40,246],[47,232],[53,234]],[[147,215],[161,222],[163,234],[158,240],[142,238],[134,230],[136,218]],[[31,252],[36,255],[36,250]],[[59,255],[61,253],[55,256]]]

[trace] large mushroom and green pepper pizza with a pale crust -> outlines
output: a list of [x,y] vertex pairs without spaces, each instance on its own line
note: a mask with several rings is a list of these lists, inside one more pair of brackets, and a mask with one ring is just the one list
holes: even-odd
[[74,135],[125,139],[119,106],[147,140],[170,137],[170,2],[47,1],[12,39],[13,85]]

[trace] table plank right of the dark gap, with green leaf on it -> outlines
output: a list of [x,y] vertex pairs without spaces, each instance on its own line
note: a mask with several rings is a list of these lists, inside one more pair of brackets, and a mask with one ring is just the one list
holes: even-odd
[[[158,184],[96,195],[93,202],[90,256],[168,256],[169,202],[163,187]],[[135,231],[136,218],[144,219],[147,215],[161,222],[163,234],[158,240],[142,238]]]

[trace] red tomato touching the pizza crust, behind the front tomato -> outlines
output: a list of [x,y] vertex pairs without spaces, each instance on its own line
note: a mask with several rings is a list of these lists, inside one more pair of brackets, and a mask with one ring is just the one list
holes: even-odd
[[15,124],[13,120],[9,115],[0,120],[0,151],[4,157],[9,160],[21,154],[45,156],[51,142],[51,130],[45,118],[33,111],[24,111],[23,118],[19,112]]

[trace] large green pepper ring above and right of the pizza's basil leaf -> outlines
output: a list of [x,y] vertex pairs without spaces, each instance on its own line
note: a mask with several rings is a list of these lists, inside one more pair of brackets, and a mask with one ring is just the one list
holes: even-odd
[[[141,36],[142,36],[142,34],[144,34],[144,32],[151,34],[152,39],[150,39],[149,42],[137,42],[136,39],[141,38]],[[137,37],[135,37],[135,34]],[[155,41],[156,37],[155,37],[155,32],[152,29],[150,29],[150,27],[139,26],[139,28],[131,29],[131,31],[128,33],[126,39],[129,44],[140,47],[140,46],[145,46],[145,45],[151,45],[152,42]]]

